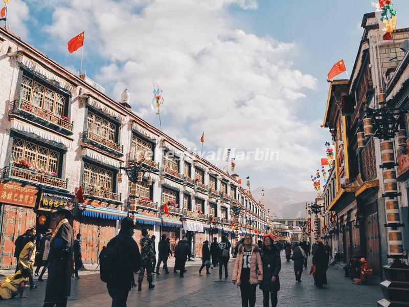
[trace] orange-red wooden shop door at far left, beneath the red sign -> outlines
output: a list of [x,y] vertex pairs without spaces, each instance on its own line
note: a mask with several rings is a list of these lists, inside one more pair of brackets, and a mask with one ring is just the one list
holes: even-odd
[[14,242],[20,234],[35,226],[36,214],[31,208],[3,205],[2,235],[0,241],[0,268],[16,267]]

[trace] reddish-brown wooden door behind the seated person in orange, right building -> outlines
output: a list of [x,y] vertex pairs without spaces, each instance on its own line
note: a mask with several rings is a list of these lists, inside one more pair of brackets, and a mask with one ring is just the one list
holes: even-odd
[[[368,208],[368,209],[367,209]],[[381,276],[381,262],[379,252],[379,222],[376,203],[365,208],[365,237],[367,261],[374,270],[374,274]]]

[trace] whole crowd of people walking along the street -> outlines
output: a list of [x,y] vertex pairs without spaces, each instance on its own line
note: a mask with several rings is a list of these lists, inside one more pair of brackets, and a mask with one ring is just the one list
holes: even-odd
[[[44,272],[48,269],[46,295],[44,307],[66,306],[71,292],[71,279],[79,279],[78,270],[82,264],[81,235],[77,234],[74,240],[73,228],[69,223],[71,211],[67,207],[59,207],[56,213],[57,228],[47,230],[44,234],[37,234],[34,228],[20,235],[15,241],[17,268],[14,274],[7,276],[0,282],[0,298],[9,299],[18,294],[26,297],[24,290],[29,284],[30,290],[37,286],[33,275],[42,281]],[[165,234],[158,242],[158,258],[156,262],[155,236],[149,236],[146,228],[142,229],[142,238],[139,245],[133,239],[134,224],[131,218],[125,217],[121,221],[119,234],[112,238],[107,246],[103,247],[99,255],[100,278],[106,282],[106,287],[112,298],[112,306],[126,306],[129,291],[136,287],[134,274],[138,274],[138,291],[142,290],[144,277],[148,281],[148,288],[154,289],[152,274],[161,275],[163,266],[165,274],[169,274],[167,261],[172,255],[170,238]],[[320,289],[327,284],[326,271],[331,257],[331,247],[322,242],[313,244],[310,250],[307,242],[280,243],[275,237],[266,234],[264,239],[253,243],[252,235],[245,235],[235,246],[233,254],[236,257],[233,271],[233,283],[240,287],[242,306],[254,307],[256,302],[257,286],[263,292],[263,306],[277,306],[277,294],[280,290],[279,273],[281,270],[281,251],[284,251],[286,260],[293,261],[296,282],[302,282],[303,270],[307,268],[308,256],[312,254],[310,274],[314,284]],[[225,237],[209,246],[208,240],[203,242],[202,263],[199,275],[206,268],[206,275],[210,269],[219,268],[219,278],[229,277],[228,262],[231,254],[231,244]],[[173,272],[179,271],[183,278],[186,261],[191,258],[191,247],[188,238],[179,240],[175,250],[175,265]],[[34,271],[34,267],[36,270]],[[41,273],[40,269],[42,267]],[[40,273],[40,274],[39,274]],[[351,258],[345,267],[347,277],[365,281],[373,274],[365,258]]]

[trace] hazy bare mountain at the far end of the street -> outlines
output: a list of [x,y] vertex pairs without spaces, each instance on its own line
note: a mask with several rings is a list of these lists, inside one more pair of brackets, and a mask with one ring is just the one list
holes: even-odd
[[301,192],[286,187],[266,189],[259,187],[252,191],[254,199],[261,201],[261,190],[264,190],[264,207],[270,209],[271,216],[301,217],[305,216],[305,203],[314,201],[316,192]]

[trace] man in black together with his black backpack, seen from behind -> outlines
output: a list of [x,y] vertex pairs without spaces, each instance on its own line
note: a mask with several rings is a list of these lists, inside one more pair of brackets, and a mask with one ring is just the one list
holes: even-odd
[[133,221],[124,217],[119,234],[112,238],[100,254],[100,277],[112,298],[112,307],[126,306],[133,273],[141,267],[141,255],[133,235]]

